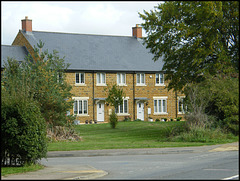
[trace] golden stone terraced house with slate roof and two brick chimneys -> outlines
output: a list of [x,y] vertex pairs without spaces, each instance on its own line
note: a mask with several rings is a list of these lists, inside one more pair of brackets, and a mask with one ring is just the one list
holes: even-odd
[[152,60],[141,38],[142,27],[138,25],[132,28],[132,36],[33,31],[32,20],[25,17],[12,45],[2,45],[2,59],[22,60],[27,53],[33,56],[39,40],[45,43],[44,49],[57,50],[70,63],[66,80],[72,86],[74,104],[69,113],[81,123],[109,121],[113,109],[105,101],[106,88],[114,84],[125,93],[123,104],[116,108],[119,120],[182,117],[183,95],[166,89],[163,62]]

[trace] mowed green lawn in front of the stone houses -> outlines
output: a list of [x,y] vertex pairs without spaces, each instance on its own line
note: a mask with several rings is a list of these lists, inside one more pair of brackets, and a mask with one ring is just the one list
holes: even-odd
[[78,142],[52,142],[48,151],[127,149],[127,148],[163,148],[202,146],[234,142],[235,139],[210,142],[170,141],[170,133],[185,122],[119,122],[115,129],[106,124],[88,124],[75,126],[82,137]]

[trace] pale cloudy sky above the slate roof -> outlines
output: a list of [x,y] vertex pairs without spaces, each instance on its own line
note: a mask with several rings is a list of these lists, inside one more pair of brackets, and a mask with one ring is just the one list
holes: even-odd
[[[163,1],[1,1],[1,44],[11,45],[28,16],[33,31],[132,36],[132,27],[144,21]],[[143,36],[146,36],[143,30]]]

